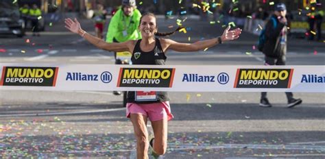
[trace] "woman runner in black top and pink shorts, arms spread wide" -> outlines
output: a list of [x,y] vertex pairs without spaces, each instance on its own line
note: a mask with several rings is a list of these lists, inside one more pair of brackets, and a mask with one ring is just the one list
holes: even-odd
[[[221,36],[195,43],[181,43],[168,38],[156,38],[156,36],[173,34],[173,32],[167,34],[158,33],[156,16],[152,13],[146,13],[141,16],[139,25],[142,39],[107,43],[85,32],[77,19],[65,19],[65,24],[65,27],[71,32],[79,34],[100,49],[108,51],[130,51],[132,53],[132,64],[163,65],[167,59],[166,54],[169,49],[179,52],[199,51],[206,47],[221,44],[222,42],[235,40],[241,34],[241,29],[230,30],[230,26],[228,26]],[[145,93],[139,91],[128,92],[126,110],[126,116],[130,118],[134,127],[134,135],[137,143],[136,156],[137,158],[148,158],[147,151],[150,147],[152,156],[157,158],[166,152],[167,121],[173,119],[169,106],[169,98],[165,92],[150,92],[147,101],[137,101],[136,95],[139,94],[144,95]],[[150,98],[155,95],[156,98]],[[146,126],[148,118],[154,130],[154,138],[150,140]]]

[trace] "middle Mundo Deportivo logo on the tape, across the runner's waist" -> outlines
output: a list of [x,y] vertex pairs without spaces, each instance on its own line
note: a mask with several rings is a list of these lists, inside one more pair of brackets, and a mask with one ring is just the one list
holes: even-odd
[[121,68],[117,87],[171,88],[175,69]]

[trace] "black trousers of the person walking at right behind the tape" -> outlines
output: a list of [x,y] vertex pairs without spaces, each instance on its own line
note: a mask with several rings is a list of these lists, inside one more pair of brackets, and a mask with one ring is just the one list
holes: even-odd
[[[270,58],[265,56],[265,65],[285,65],[285,60],[286,60],[285,54],[283,54],[279,58]],[[266,95],[267,95],[266,92],[261,93],[261,99],[267,98]],[[288,101],[293,99],[292,93],[286,92],[285,95],[287,95]]]

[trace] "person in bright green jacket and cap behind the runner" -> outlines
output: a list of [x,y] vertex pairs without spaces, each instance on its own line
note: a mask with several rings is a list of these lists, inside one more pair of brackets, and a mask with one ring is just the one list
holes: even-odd
[[[136,9],[135,0],[122,0],[122,7],[110,19],[106,42],[125,42],[127,40],[141,39],[141,32],[138,26],[141,19],[141,12]],[[115,64],[121,64],[121,60],[115,56]],[[114,91],[114,95],[121,95],[121,92]]]

